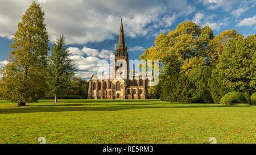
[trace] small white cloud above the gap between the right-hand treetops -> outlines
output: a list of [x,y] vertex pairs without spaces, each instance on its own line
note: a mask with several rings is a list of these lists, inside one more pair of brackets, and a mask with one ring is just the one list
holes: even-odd
[[197,12],[193,17],[192,21],[196,24],[199,24],[201,27],[209,26],[213,30],[220,30],[221,26],[228,26],[229,22],[228,19],[224,18],[219,20],[218,22],[213,22],[212,19],[214,18],[213,15],[205,15],[203,12]]

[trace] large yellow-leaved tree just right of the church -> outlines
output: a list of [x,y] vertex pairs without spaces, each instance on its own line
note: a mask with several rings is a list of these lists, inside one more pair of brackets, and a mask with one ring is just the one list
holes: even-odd
[[[140,58],[159,60],[159,70],[165,74],[160,77],[160,81],[161,78],[171,77],[172,74],[188,74],[193,68],[207,65],[208,43],[213,37],[213,31],[209,26],[200,28],[191,21],[183,22],[168,35],[162,33],[156,37],[155,46],[146,49]],[[174,80],[172,82],[175,82],[176,79],[171,78]],[[163,83],[159,82],[159,87],[164,87]],[[159,87],[150,87],[150,91],[159,93]]]

